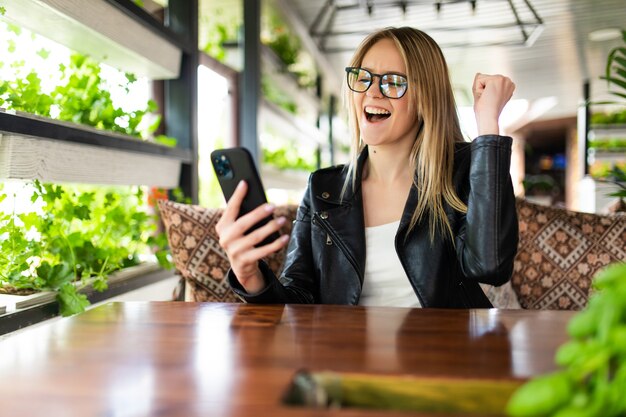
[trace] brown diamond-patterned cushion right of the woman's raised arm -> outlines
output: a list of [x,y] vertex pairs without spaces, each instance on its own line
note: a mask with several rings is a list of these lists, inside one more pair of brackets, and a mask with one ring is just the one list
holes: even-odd
[[520,241],[511,283],[523,308],[580,310],[591,279],[626,260],[626,216],[517,201]]

